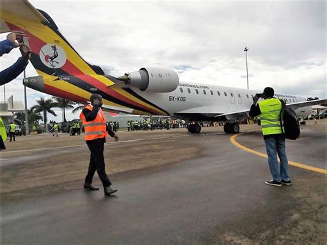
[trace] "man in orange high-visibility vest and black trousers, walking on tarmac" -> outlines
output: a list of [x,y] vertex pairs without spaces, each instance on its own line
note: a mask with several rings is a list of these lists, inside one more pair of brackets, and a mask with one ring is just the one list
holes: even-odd
[[88,166],[88,174],[86,175],[84,188],[89,190],[99,190],[98,187],[92,185],[92,179],[95,175],[95,170],[101,179],[103,184],[104,194],[110,195],[117,190],[110,188],[111,182],[106,174],[103,147],[106,142],[106,136],[109,135],[118,140],[117,135],[108,130],[106,126],[106,117],[101,110],[102,97],[98,94],[93,94],[90,97],[91,105],[87,105],[79,115],[82,120],[83,127],[85,129],[84,139],[90,149],[90,164]]

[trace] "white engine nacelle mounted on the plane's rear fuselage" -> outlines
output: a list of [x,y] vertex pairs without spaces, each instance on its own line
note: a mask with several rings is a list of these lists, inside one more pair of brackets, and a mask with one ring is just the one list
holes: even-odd
[[125,73],[119,77],[128,86],[146,92],[172,92],[178,86],[178,75],[174,70],[165,68],[141,68],[136,72]]

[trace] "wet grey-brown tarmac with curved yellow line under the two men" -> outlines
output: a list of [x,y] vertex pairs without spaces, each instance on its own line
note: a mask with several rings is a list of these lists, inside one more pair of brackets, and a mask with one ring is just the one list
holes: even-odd
[[327,120],[301,128],[281,187],[264,184],[257,125],[119,132],[105,147],[111,197],[82,188],[83,135],[17,137],[0,153],[1,244],[325,244]]

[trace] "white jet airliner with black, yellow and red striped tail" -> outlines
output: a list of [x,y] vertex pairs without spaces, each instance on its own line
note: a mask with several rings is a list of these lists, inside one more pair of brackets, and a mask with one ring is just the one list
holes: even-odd
[[[261,92],[179,81],[177,72],[167,68],[144,67],[113,77],[85,61],[50,15],[28,0],[4,1],[0,12],[0,32],[23,31],[24,43],[32,50],[30,61],[39,75],[23,79],[23,84],[49,95],[86,104],[98,93],[103,108],[112,112],[186,119],[194,122],[190,133],[200,133],[199,121],[221,121],[225,133],[239,133],[238,121],[249,117],[252,97]],[[327,102],[278,92],[275,97],[285,99],[298,117],[310,115],[310,106]]]

